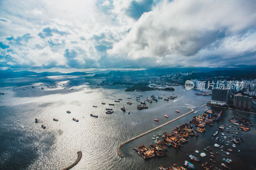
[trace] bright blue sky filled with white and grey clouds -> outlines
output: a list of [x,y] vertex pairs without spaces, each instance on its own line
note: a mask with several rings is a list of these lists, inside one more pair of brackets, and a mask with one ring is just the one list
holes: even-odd
[[0,1],[0,70],[256,65],[256,2]]

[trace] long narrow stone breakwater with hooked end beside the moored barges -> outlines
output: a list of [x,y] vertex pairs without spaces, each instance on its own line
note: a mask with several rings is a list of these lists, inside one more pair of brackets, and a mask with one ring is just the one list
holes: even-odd
[[143,134],[141,134],[141,135],[139,135],[139,136],[137,136],[137,137],[133,137],[132,139],[129,139],[129,140],[123,142],[122,144],[120,144],[120,145],[118,146],[118,148],[117,148],[117,154],[118,154],[121,158],[123,158],[124,155],[123,155],[122,152],[121,152],[121,148],[122,148],[122,146],[124,146],[124,144],[127,144],[127,143],[129,143],[129,142],[131,142],[131,141],[133,141],[133,140],[135,140],[135,139],[138,139],[139,137],[142,137],[142,136],[144,136],[144,135],[146,135],[146,134],[148,134],[148,133],[150,133],[150,132],[152,132],[152,131],[154,131],[154,130],[156,130],[156,129],[162,128],[163,126],[165,126],[165,125],[167,125],[167,124],[169,124],[169,123],[171,123],[171,122],[174,122],[174,121],[180,119],[181,117],[186,116],[186,115],[188,115],[188,114],[194,112],[194,109],[192,109],[192,108],[190,108],[190,107],[188,107],[188,108],[191,109],[190,112],[188,112],[188,113],[186,113],[186,114],[184,114],[184,115],[181,115],[181,116],[179,116],[179,117],[177,117],[177,118],[171,120],[170,122],[166,122],[166,123],[164,123],[164,124],[162,124],[162,125],[160,125],[160,126],[154,128],[154,129],[151,129],[151,130],[149,130],[149,131],[147,131],[147,132],[145,132],[145,133],[143,133]]

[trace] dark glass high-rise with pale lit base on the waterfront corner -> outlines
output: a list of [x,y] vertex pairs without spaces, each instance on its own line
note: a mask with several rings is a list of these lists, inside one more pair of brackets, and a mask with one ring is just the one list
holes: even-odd
[[229,89],[212,89],[212,104],[227,105],[230,100]]

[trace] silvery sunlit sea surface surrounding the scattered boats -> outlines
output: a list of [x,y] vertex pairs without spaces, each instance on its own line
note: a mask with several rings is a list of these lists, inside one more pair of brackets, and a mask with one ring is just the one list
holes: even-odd
[[[174,92],[124,92],[125,88],[97,88],[97,84],[102,80],[84,76],[27,76],[0,79],[0,92],[4,92],[4,95],[0,95],[0,169],[63,169],[75,162],[78,151],[82,151],[83,156],[72,169],[157,170],[160,165],[167,167],[171,164],[184,167],[184,161],[189,160],[187,154],[200,157],[200,153],[205,152],[204,148],[207,146],[211,146],[214,153],[221,153],[220,149],[214,148],[215,142],[211,140],[211,134],[219,125],[231,125],[228,118],[232,115],[246,115],[253,125],[256,122],[254,114],[221,107],[201,107],[211,100],[211,96],[196,96],[195,93],[198,91],[185,90],[182,86],[174,87]],[[144,101],[152,94],[163,99],[159,99],[158,102],[146,102],[148,109],[137,110],[139,103],[136,97],[142,95],[140,101]],[[178,97],[164,101],[165,97],[173,94]],[[114,101],[118,99],[123,100]],[[102,105],[102,102],[106,105]],[[127,102],[132,102],[132,105],[128,105]],[[109,106],[109,103],[115,106]],[[97,107],[92,107],[93,105]],[[123,106],[126,112],[120,110]],[[119,144],[189,112],[190,109],[187,107],[195,111],[125,144],[121,150],[124,158],[117,155]],[[114,113],[106,114],[106,108],[113,108]],[[153,142],[153,135],[171,133],[178,124],[189,123],[194,115],[202,115],[206,108],[217,112],[222,110],[222,120],[214,122],[212,127],[207,126],[206,132],[199,133],[198,137],[188,137],[188,143],[179,150],[167,147],[166,157],[144,160],[132,149],[141,144],[149,147]],[[71,113],[68,114],[67,110]],[[127,114],[127,110],[131,113]],[[175,110],[179,110],[180,113]],[[91,117],[90,114],[99,117]],[[169,118],[164,115],[168,115]],[[36,118],[38,123],[35,123]],[[53,118],[59,121],[55,122]],[[79,122],[73,121],[72,118],[78,119]],[[159,122],[154,119],[158,119]],[[46,129],[41,128],[41,125]],[[237,127],[234,128],[230,130],[237,131]],[[232,169],[256,169],[255,132],[255,126],[248,132],[239,131],[237,136],[243,137],[245,141],[236,148],[223,143],[224,151],[227,148],[234,151],[229,156],[223,154],[211,158],[210,153],[205,152],[207,156],[200,157],[200,162],[189,162],[194,164],[196,169],[203,169],[201,165],[206,161],[220,168],[220,164],[224,163],[222,158],[229,158],[233,160],[228,165]],[[234,135],[226,133],[225,130],[224,133],[231,137]],[[195,153],[195,150],[199,153]],[[241,152],[237,152],[238,150]],[[216,163],[212,163],[210,159]]]

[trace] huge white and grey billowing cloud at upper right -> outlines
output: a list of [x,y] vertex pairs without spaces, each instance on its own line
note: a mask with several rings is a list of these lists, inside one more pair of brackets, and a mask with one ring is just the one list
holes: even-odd
[[[192,58],[198,62],[203,52],[203,60],[207,61],[212,53],[220,50],[225,53],[216,53],[219,59],[225,56],[232,59],[253,52],[255,57],[256,41],[250,41],[249,45],[247,40],[244,40],[254,37],[256,33],[254,7],[253,1],[165,1],[152,11],[144,13],[131,31],[121,41],[114,43],[108,54],[123,55],[134,60],[147,58],[158,63],[156,56],[161,56],[164,66],[174,66],[175,62],[180,62],[180,58],[185,56],[186,60]],[[239,47],[246,45],[251,48]],[[209,51],[209,54],[206,51]],[[167,62],[170,59],[173,62]],[[195,62],[189,64],[193,63]],[[219,63],[212,64],[218,66]],[[229,64],[234,63],[221,65]],[[256,64],[255,60],[253,64]]]

